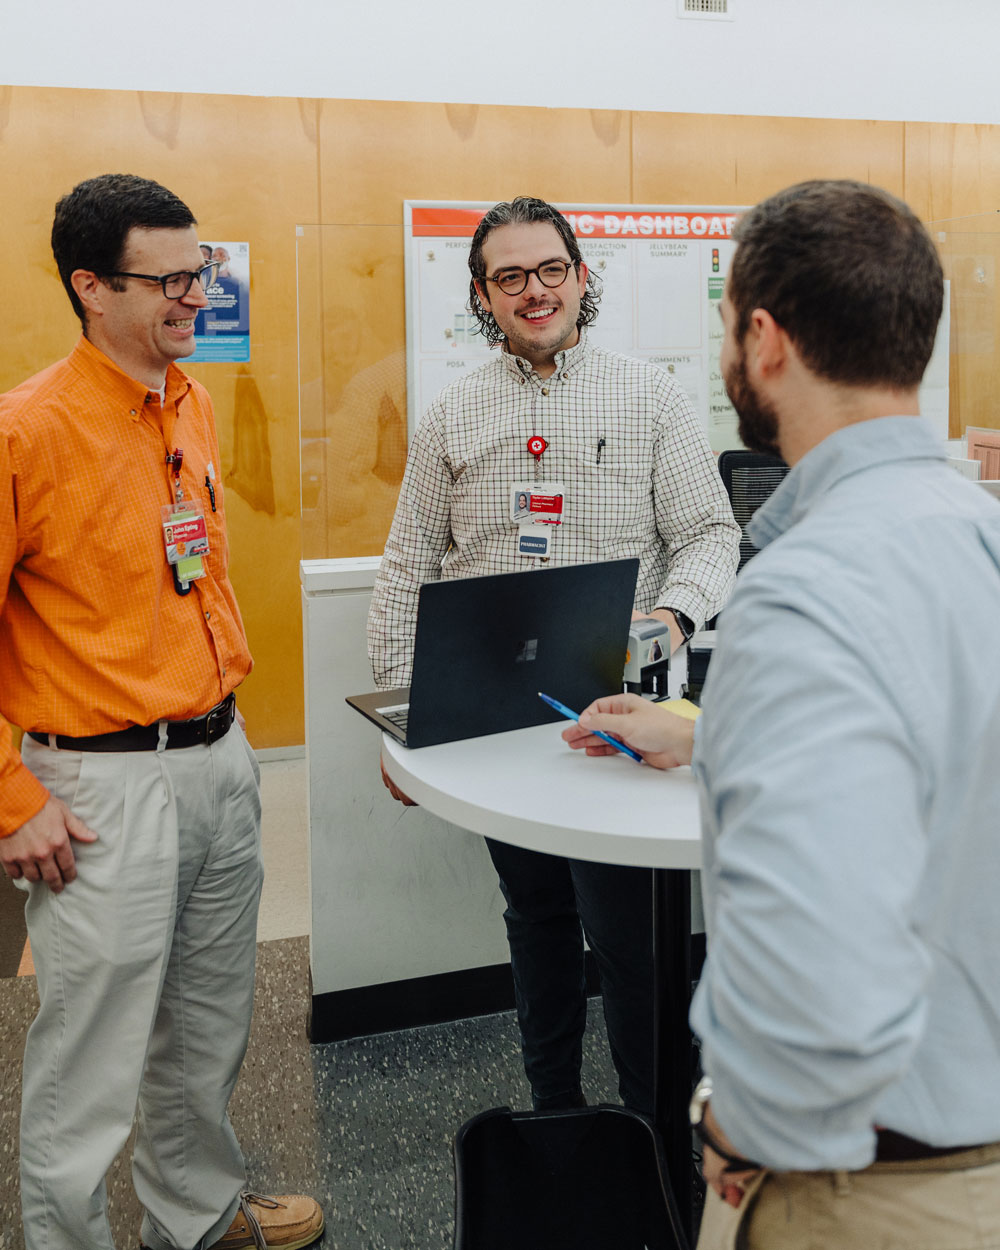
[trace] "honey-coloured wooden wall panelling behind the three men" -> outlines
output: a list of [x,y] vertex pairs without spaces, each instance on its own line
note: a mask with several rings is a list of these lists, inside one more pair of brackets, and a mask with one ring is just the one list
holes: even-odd
[[[251,245],[251,362],[190,369],[215,401],[232,580],[256,659],[241,706],[268,748],[304,736],[300,556],[378,552],[391,519],[405,454],[404,199],[752,204],[830,176],[881,184],[925,220],[958,218],[1000,205],[1000,126],[0,86],[0,390],[72,346],[52,205],[111,171],[170,186],[205,238]],[[296,226],[319,222],[300,258],[321,291],[319,346],[304,354],[304,525]],[[975,311],[959,309],[952,326]],[[994,356],[952,359],[964,421],[1000,426]]]

